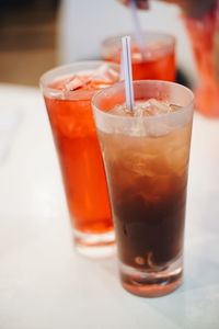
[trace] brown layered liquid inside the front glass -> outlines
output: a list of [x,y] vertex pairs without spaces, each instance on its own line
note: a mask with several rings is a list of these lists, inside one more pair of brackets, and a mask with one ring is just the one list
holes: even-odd
[[101,138],[119,259],[160,271],[183,250],[191,127],[154,138]]

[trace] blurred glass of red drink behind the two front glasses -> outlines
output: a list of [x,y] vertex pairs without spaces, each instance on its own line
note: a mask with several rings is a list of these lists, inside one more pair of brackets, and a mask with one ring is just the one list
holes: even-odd
[[[120,63],[122,37],[112,36],[102,43],[104,60]],[[143,49],[140,49],[135,34],[131,37],[131,65],[134,80],[175,81],[175,38],[172,35],[147,32],[143,33]]]

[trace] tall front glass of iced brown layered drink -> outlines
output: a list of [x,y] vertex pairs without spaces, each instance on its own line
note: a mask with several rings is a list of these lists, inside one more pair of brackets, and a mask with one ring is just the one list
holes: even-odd
[[194,97],[164,81],[124,83],[93,98],[116,230],[123,286],[155,297],[182,283]]

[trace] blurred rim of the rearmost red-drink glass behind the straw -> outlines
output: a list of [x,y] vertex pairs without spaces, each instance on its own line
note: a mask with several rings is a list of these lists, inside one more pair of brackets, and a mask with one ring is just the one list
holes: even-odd
[[[125,33],[119,33],[119,34],[115,34],[115,35],[111,35],[107,36],[106,38],[104,38],[101,43],[102,47],[110,47],[112,45],[116,45],[119,43],[120,38],[123,36],[129,35],[131,41],[130,43],[132,43],[132,39],[136,39],[136,34],[134,32],[125,32]],[[168,37],[170,39],[170,43],[166,43],[163,45],[163,47],[161,49],[155,49],[153,50],[155,52],[161,52],[163,48],[174,48],[175,44],[176,44],[176,37],[173,34],[169,34],[165,32],[159,32],[159,31],[143,31],[142,32],[143,37],[146,36],[157,36],[157,37]],[[147,49],[146,49],[147,52]]]

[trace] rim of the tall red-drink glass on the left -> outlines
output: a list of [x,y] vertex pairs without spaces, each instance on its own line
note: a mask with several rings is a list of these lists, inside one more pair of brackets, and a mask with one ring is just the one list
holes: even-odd
[[[65,70],[65,69],[70,69],[72,67],[77,67],[77,66],[89,66],[89,65],[103,65],[103,64],[108,64],[115,68],[118,68],[118,71],[119,71],[119,65],[117,63],[113,63],[113,61],[108,61],[108,60],[99,60],[99,59],[94,59],[94,60],[76,60],[76,61],[72,61],[70,64],[65,64],[65,65],[60,65],[60,66],[57,66],[57,67],[54,67],[49,70],[47,70],[46,72],[44,72],[41,78],[39,78],[39,86],[43,90],[46,90],[47,92],[50,92],[50,93],[59,93],[59,94],[73,94],[73,93],[77,93],[77,94],[89,94],[89,93],[93,93],[94,91],[100,91],[100,90],[61,90],[61,89],[56,89],[56,88],[50,88],[48,87],[48,83],[45,82],[45,80],[53,73],[58,73],[60,70]],[[69,75],[71,75],[69,72]],[[72,73],[73,75],[73,73]],[[55,81],[58,81],[59,78],[54,79],[54,81],[50,81],[50,83],[55,82]],[[61,77],[60,77],[61,79]]]

